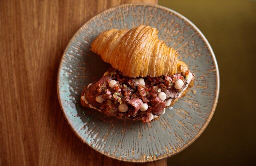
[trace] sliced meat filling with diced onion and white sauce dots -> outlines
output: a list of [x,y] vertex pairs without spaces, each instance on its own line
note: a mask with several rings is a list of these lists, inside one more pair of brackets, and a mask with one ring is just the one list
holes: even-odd
[[152,121],[172,106],[193,79],[191,72],[172,76],[131,78],[110,68],[97,82],[89,84],[81,101],[90,108],[119,119]]

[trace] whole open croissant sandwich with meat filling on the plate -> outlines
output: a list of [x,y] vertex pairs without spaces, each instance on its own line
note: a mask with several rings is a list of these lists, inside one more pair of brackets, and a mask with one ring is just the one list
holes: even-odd
[[150,123],[185,96],[194,76],[157,34],[155,28],[140,25],[97,36],[91,50],[112,67],[83,89],[82,106]]

